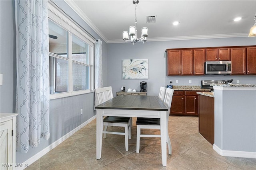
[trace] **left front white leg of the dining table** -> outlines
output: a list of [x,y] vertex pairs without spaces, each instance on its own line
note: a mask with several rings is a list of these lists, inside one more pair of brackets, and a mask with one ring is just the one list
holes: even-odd
[[103,116],[102,109],[96,109],[97,124],[96,124],[96,159],[101,158],[102,149],[102,131],[103,131]]

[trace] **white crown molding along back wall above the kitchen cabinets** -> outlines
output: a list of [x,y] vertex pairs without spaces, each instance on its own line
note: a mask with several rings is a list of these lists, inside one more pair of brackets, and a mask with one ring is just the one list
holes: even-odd
[[[190,39],[213,39],[213,38],[235,38],[235,37],[248,37],[248,33],[147,38],[147,41],[148,42],[150,42],[150,41],[178,41],[178,40],[190,40]],[[106,43],[125,43],[125,41],[122,39],[116,39],[116,40],[108,40],[108,41],[106,41]]]

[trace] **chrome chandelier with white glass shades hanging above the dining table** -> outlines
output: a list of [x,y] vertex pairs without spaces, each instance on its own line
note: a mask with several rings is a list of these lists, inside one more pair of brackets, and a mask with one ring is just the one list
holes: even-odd
[[[137,38],[137,4],[139,3],[139,0],[133,0],[132,3],[135,4],[135,26],[129,27],[129,33],[128,31],[123,32],[123,40],[125,42],[131,41],[132,45],[134,45],[134,43],[138,41],[143,43],[147,41],[146,38],[148,37],[148,28],[143,27],[141,29],[141,38],[138,39]],[[131,37],[130,40],[129,40],[129,36]]]

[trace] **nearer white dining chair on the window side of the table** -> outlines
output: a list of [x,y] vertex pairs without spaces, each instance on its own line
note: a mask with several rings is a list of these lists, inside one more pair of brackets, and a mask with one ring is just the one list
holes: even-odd
[[[110,87],[111,88],[111,87]],[[104,88],[97,88],[94,89],[96,100],[98,100],[99,104],[102,104],[111,98],[113,98],[112,88],[110,90],[109,87]],[[112,97],[111,97],[112,96]],[[118,117],[118,116],[106,116],[103,119],[103,137],[106,138],[106,133],[108,134],[115,134],[115,135],[124,135],[125,136],[125,150],[128,151],[128,139],[131,139],[131,117]],[[114,131],[107,131],[108,126],[117,126],[117,127],[124,127],[124,132],[114,132]]]

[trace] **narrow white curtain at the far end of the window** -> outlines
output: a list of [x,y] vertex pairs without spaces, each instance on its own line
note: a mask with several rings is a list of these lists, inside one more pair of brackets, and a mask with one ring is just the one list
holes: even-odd
[[[94,77],[94,84],[95,88],[102,88],[102,41],[98,39],[95,43],[95,77]],[[96,99],[94,100],[94,106],[97,106]]]

